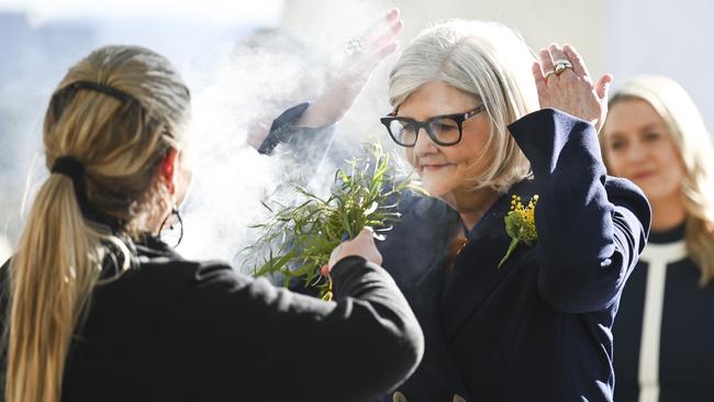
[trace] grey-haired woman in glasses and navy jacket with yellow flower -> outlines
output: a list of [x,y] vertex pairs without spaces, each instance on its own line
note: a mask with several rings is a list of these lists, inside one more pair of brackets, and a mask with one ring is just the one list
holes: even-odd
[[593,82],[568,45],[539,58],[503,25],[450,21],[391,71],[381,122],[432,197],[380,247],[426,342],[393,401],[613,399],[649,208],[600,157],[611,76]]

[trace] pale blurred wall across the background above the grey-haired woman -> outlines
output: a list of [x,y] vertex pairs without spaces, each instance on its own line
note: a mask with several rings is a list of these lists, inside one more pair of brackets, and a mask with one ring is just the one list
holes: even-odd
[[[367,15],[390,7],[402,10],[402,44],[440,19],[493,20],[517,29],[536,51],[551,42],[573,44],[593,76],[615,75],[614,89],[637,74],[667,75],[690,92],[714,131],[714,1],[287,0],[282,25],[317,52],[326,51],[367,26]],[[370,93],[383,89],[384,70],[370,83],[370,102],[378,101]]]

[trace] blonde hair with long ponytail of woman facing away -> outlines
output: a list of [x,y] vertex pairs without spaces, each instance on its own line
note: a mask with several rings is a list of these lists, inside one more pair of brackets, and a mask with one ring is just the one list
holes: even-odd
[[[78,81],[115,88],[135,101],[69,88]],[[88,203],[124,225],[112,231],[87,220],[67,176],[53,174],[43,183],[10,265],[5,401],[59,401],[67,351],[104,259],[119,260],[120,272],[129,268],[125,235],[146,231],[156,213],[157,171],[167,152],[181,145],[189,111],[188,89],[174,67],[142,47],[97,49],[59,83],[44,122],[46,165],[79,160]]]

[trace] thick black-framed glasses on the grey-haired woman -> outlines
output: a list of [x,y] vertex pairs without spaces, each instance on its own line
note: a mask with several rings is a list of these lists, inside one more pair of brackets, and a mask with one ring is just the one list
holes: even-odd
[[444,114],[429,118],[425,122],[417,122],[410,118],[395,116],[393,113],[381,118],[389,135],[401,146],[413,147],[416,145],[419,131],[424,129],[426,135],[440,146],[456,145],[461,141],[464,122],[483,111],[483,104],[465,113]]

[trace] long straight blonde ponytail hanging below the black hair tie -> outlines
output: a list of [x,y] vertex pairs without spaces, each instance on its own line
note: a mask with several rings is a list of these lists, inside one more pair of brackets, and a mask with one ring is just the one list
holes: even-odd
[[7,401],[59,400],[71,334],[99,277],[101,237],[85,223],[71,180],[53,175],[10,265],[8,373],[18,376]]

